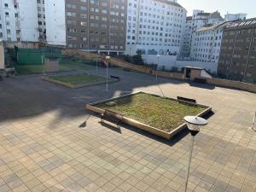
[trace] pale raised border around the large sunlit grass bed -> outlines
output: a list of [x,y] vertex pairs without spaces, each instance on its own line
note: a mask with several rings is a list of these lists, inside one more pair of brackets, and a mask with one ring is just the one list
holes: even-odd
[[[88,109],[90,111],[93,111],[95,113],[102,114],[102,113],[104,113],[104,109],[97,108],[96,107],[97,105],[103,104],[103,103],[107,103],[107,102],[113,102],[113,100],[117,100],[117,99],[120,99],[120,98],[125,98],[125,97],[129,97],[129,96],[135,96],[137,94],[148,94],[148,93],[137,92],[137,93],[128,94],[128,95],[125,95],[125,96],[113,97],[112,99],[104,100],[104,101],[101,101],[101,102],[94,102],[94,103],[87,104],[86,105],[86,109]],[[148,95],[157,96],[157,95],[154,95],[154,94],[148,94]],[[168,98],[168,97],[163,97],[163,96],[159,96],[159,97],[165,98],[165,99],[169,99],[169,100],[172,100],[172,101],[176,101],[176,102],[183,102],[183,101],[178,101],[177,99],[172,99],[172,98]],[[183,103],[186,103],[186,104],[189,104],[189,105],[194,105],[194,106],[200,106],[202,108],[206,108],[204,111],[202,111],[201,113],[196,115],[198,117],[203,117],[207,113],[212,111],[212,108],[204,106],[204,105],[201,105],[201,104],[196,104],[194,102],[183,102]],[[135,126],[138,129],[142,129],[144,131],[148,131],[148,132],[150,132],[150,133],[152,133],[154,135],[157,135],[157,136],[160,136],[160,137],[164,137],[166,139],[172,138],[178,132],[183,131],[183,129],[187,127],[186,123],[183,123],[183,124],[179,125],[176,129],[174,129],[174,130],[172,130],[170,132],[166,132],[166,131],[162,131],[162,130],[160,130],[158,128],[155,128],[153,126],[143,124],[143,123],[141,123],[141,122],[139,122],[139,121],[137,121],[135,119],[127,118],[125,116],[123,116],[122,122],[127,124],[127,125]]]

